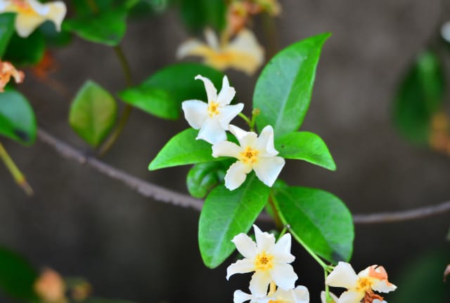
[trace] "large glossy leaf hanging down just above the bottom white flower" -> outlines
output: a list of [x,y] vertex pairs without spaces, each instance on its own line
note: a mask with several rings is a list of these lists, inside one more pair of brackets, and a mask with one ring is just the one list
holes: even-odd
[[235,250],[234,236],[247,233],[263,210],[269,187],[255,173],[233,191],[219,185],[205,200],[198,222],[198,244],[205,265],[218,267]]

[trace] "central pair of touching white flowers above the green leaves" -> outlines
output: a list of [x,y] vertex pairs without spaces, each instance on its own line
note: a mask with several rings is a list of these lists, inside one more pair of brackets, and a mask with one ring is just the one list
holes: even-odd
[[[222,88],[217,94],[214,84],[203,76],[195,76],[205,84],[208,102],[186,100],[181,107],[189,125],[198,132],[197,140],[202,139],[212,145],[212,156],[229,156],[238,159],[225,175],[225,187],[233,190],[240,187],[248,173],[255,170],[259,180],[271,187],[283,168],[285,161],[276,156],[274,147],[274,129],[263,128],[261,134],[246,132],[230,124],[243,110],[243,103],[230,105],[236,93],[224,76]],[[226,130],[238,140],[239,145],[226,141]]]

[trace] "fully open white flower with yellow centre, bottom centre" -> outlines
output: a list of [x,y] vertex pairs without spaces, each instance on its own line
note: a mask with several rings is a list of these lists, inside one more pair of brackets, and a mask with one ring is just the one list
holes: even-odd
[[273,281],[283,290],[294,288],[297,274],[288,264],[295,260],[290,253],[290,234],[282,236],[275,243],[275,236],[262,232],[256,225],[256,243],[246,234],[238,234],[233,238],[238,252],[245,257],[231,264],[226,269],[226,279],[233,274],[245,274],[255,271],[250,281],[250,292],[254,297],[262,297]]

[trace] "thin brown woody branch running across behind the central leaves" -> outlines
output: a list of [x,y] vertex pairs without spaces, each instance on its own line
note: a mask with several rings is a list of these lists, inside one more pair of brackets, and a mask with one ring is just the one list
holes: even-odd
[[[203,207],[203,201],[200,199],[192,198],[186,194],[181,194],[164,187],[159,187],[153,183],[145,180],[141,180],[138,177],[129,175],[123,170],[119,170],[110,166],[103,161],[100,161],[93,156],[87,156],[79,149],[72,147],[70,144],[58,140],[53,135],[50,135],[45,130],[39,128],[37,136],[41,142],[49,145],[58,152],[61,156],[67,159],[77,161],[80,164],[90,166],[99,173],[107,175],[108,177],[119,180],[126,184],[131,189],[139,192],[146,198],[153,198],[156,201],[162,201],[165,203],[171,203],[176,206],[182,206],[186,208],[194,208],[195,210],[201,210]],[[422,217],[428,217],[431,215],[438,215],[441,213],[450,212],[450,201],[437,204],[435,206],[426,206],[423,208],[416,208],[412,210],[404,210],[394,213],[374,213],[368,215],[353,215],[355,224],[373,224],[373,223],[387,223],[387,222],[399,222],[406,220],[413,220]],[[259,216],[259,220],[269,221],[271,218],[269,215],[262,214]]]

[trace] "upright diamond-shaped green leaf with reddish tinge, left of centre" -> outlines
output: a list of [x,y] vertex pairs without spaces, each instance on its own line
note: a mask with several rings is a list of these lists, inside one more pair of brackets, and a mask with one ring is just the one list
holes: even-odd
[[88,80],[72,101],[69,123],[75,133],[97,147],[114,126],[116,116],[117,104],[113,96]]

